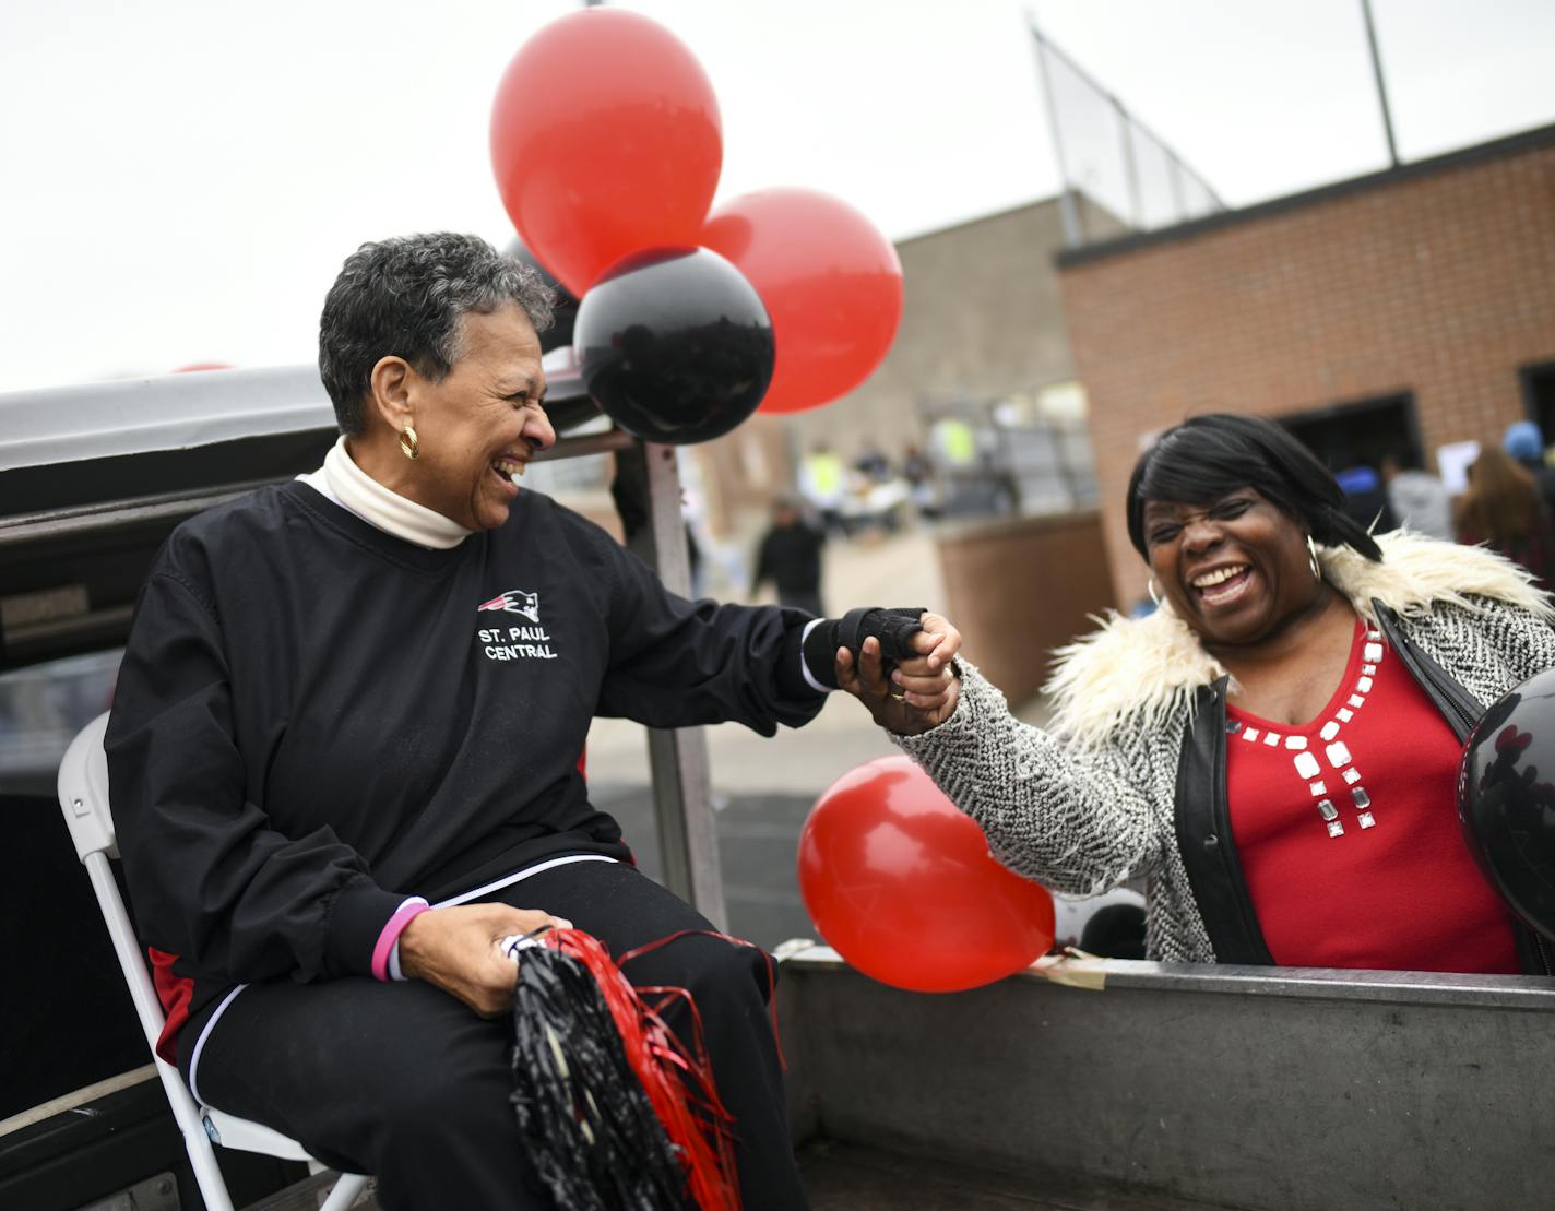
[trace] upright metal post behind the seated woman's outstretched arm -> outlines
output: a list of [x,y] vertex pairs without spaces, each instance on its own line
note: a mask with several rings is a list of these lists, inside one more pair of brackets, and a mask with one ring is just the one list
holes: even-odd
[[[648,530],[653,564],[664,588],[690,595],[690,552],[681,519],[681,485],[675,446],[647,443]],[[708,734],[701,728],[648,729],[653,816],[659,833],[664,886],[717,925],[728,927],[718,821],[712,810]]]

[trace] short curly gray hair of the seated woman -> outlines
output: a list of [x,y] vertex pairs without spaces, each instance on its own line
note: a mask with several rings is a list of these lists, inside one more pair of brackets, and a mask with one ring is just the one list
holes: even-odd
[[518,303],[535,331],[552,323],[552,291],[529,266],[479,236],[434,232],[362,244],[345,258],[319,317],[319,376],[344,434],[361,434],[373,367],[404,358],[434,382],[463,353],[463,317]]

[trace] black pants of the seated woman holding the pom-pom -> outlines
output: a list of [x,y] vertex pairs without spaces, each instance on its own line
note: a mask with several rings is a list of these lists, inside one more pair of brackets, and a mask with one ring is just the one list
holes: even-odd
[[[485,900],[566,917],[611,953],[708,930],[689,905],[619,863],[543,871]],[[750,1211],[804,1208],[767,1006],[767,961],[681,937],[625,965],[636,984],[690,990],[718,1096],[734,1115]],[[204,1014],[180,1032],[191,1052]],[[681,1038],[684,1020],[669,1018]],[[386,1211],[546,1208],[508,1102],[508,1021],[487,1021],[420,981],[272,981],[246,989],[205,1038],[196,1080],[218,1110],[297,1139],[323,1163],[378,1178]],[[187,1060],[185,1060],[187,1074]]]

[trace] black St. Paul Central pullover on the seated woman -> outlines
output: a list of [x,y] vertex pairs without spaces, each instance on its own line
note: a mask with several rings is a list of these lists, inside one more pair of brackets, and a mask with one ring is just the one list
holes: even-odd
[[575,768],[589,720],[798,726],[805,622],[676,597],[527,491],[451,550],[299,482],[210,510],[142,591],[106,737],[140,934],[197,1009],[367,975],[407,895],[630,857]]

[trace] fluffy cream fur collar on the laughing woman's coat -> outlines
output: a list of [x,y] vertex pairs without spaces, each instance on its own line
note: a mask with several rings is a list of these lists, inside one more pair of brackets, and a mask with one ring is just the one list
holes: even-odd
[[[1373,600],[1409,617],[1443,602],[1480,609],[1474,599],[1485,597],[1555,617],[1532,577],[1485,547],[1403,530],[1376,541],[1382,563],[1350,547],[1319,547],[1323,575],[1370,622],[1376,620]],[[1225,676],[1168,605],[1143,619],[1107,611],[1096,622],[1099,630],[1054,651],[1057,662],[1043,690],[1054,700],[1053,731],[1061,735],[1099,743],[1124,717],[1135,717],[1135,726],[1157,726],[1174,707],[1191,704],[1200,686]]]

